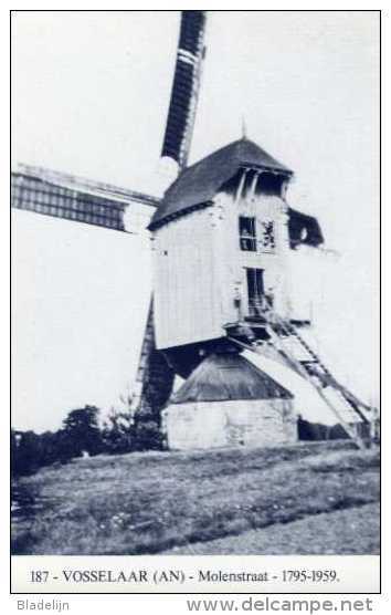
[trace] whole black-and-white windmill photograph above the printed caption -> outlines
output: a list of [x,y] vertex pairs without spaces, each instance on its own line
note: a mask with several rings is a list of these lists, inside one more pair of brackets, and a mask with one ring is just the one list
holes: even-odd
[[12,11],[13,560],[379,555],[379,22]]

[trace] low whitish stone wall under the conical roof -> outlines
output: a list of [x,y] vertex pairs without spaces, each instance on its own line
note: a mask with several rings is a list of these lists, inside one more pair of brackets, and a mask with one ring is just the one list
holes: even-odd
[[297,441],[290,399],[171,404],[162,428],[172,450],[266,447]]

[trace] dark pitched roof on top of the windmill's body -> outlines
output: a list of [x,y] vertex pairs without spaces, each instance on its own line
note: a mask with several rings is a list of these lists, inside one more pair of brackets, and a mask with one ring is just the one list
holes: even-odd
[[221,186],[243,166],[274,170],[288,176],[293,174],[258,145],[247,138],[241,138],[186,168],[166,191],[149,229],[152,230],[168,218],[196,206],[210,204]]

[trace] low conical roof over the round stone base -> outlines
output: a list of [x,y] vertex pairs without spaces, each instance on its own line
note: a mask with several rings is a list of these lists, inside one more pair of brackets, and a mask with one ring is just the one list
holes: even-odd
[[171,404],[229,399],[290,399],[292,393],[236,353],[212,354],[171,396]]

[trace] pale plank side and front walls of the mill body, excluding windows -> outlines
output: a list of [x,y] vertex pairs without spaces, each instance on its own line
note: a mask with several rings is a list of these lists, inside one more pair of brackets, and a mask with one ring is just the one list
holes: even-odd
[[[239,217],[274,225],[274,248],[243,251]],[[157,347],[169,348],[225,335],[224,325],[249,315],[246,269],[264,271],[274,309],[290,317],[287,205],[277,196],[252,199],[219,192],[213,206],[178,217],[154,233]],[[258,244],[260,246],[260,244]],[[241,296],[241,313],[235,298]]]

